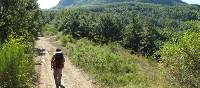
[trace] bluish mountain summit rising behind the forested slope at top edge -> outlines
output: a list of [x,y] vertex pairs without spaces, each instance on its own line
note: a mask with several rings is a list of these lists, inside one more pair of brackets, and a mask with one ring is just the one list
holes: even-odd
[[164,5],[186,4],[181,0],[60,0],[57,7],[79,6],[83,4],[116,3],[116,2],[143,2],[143,3],[164,4]]

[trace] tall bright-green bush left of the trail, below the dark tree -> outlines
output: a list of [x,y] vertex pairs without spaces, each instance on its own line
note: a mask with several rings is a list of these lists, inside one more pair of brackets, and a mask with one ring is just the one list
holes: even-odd
[[30,88],[33,74],[31,46],[10,39],[0,47],[0,88]]

